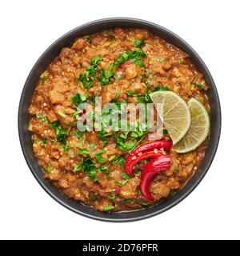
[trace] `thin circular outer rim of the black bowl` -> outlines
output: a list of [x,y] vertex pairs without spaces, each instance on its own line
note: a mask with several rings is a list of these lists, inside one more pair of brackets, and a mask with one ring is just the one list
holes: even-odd
[[[190,188],[188,188],[183,194],[179,195],[178,198],[175,198],[172,202],[168,203],[166,206],[164,206],[162,209],[159,210],[152,210],[150,213],[146,213],[146,210],[137,210],[137,211],[130,211],[129,213],[134,213],[134,212],[142,212],[141,216],[137,216],[137,217],[122,217],[122,218],[111,218],[112,214],[106,214],[106,217],[99,217],[96,216],[94,214],[88,214],[85,212],[82,212],[82,210],[77,210],[75,209],[73,206],[70,206],[69,203],[63,202],[61,198],[58,197],[58,195],[54,194],[52,191],[49,190],[48,187],[46,187],[46,185],[44,184],[44,182],[42,182],[41,178],[38,177],[38,174],[36,173],[36,171],[34,170],[34,167],[32,166],[30,159],[27,156],[26,153],[26,146],[25,146],[25,142],[23,141],[23,137],[24,137],[24,132],[22,130],[22,105],[25,99],[25,94],[26,94],[26,90],[27,90],[27,85],[30,82],[30,78],[34,75],[35,69],[38,66],[38,64],[40,62],[42,62],[42,59],[46,57],[46,54],[48,52],[50,52],[51,50],[53,50],[54,46],[56,46],[58,44],[58,42],[61,42],[63,39],[68,38],[71,34],[74,34],[75,32],[78,32],[79,30],[83,30],[86,29],[89,26],[99,26],[105,23],[111,23],[111,22],[130,22],[133,23],[134,26],[138,27],[138,25],[145,25],[145,26],[150,26],[152,27],[154,30],[160,30],[162,31],[162,33],[168,34],[170,35],[170,37],[175,38],[176,40],[178,40],[179,42],[181,42],[181,44],[186,47],[187,50],[190,51],[191,54],[194,55],[194,58],[198,59],[199,65],[202,66],[203,70],[204,70],[204,76],[207,76],[208,79],[210,80],[210,82],[208,82],[208,84],[210,84],[210,88],[211,90],[213,90],[213,94],[214,94],[214,99],[215,99],[215,103],[216,103],[216,111],[218,112],[218,117],[217,117],[217,130],[214,133],[214,145],[213,145],[213,149],[212,149],[212,154],[210,155],[210,158],[208,159],[208,162],[206,163],[206,166],[204,166],[204,170],[202,171],[202,173],[199,175],[198,179],[192,184],[192,186],[190,186]],[[114,27],[119,27],[119,26],[112,26]],[[121,27],[121,26],[120,26]],[[99,29],[100,31],[101,29]],[[178,47],[179,48],[179,47]],[[191,56],[190,56],[191,57]],[[189,58],[190,58],[189,57]],[[36,86],[36,85],[35,85]],[[202,61],[202,58],[200,58],[200,56],[197,54],[197,52],[187,43],[185,42],[182,38],[180,38],[177,34],[174,34],[174,32],[166,29],[163,26],[160,26],[158,24],[155,24],[153,22],[148,22],[146,20],[142,20],[139,18],[126,18],[126,17],[114,17],[114,18],[102,18],[102,19],[98,19],[98,20],[94,20],[93,22],[87,22],[81,26],[77,26],[75,27],[73,30],[70,30],[68,32],[66,32],[66,34],[63,34],[60,38],[58,38],[57,40],[55,40],[44,52],[43,54],[38,58],[37,62],[35,62],[34,66],[32,67],[32,69],[30,70],[30,74],[28,75],[28,77],[26,78],[26,82],[25,85],[23,86],[22,89],[22,94],[21,94],[21,98],[20,98],[20,102],[19,102],[19,106],[18,106],[18,135],[19,135],[19,140],[20,140],[20,144],[21,144],[21,148],[22,148],[22,153],[24,155],[24,158],[26,159],[26,163],[30,168],[30,171],[32,172],[32,174],[34,175],[34,178],[36,178],[36,180],[38,181],[38,183],[42,186],[43,190],[46,191],[47,194],[49,194],[51,196],[51,198],[54,198],[55,201],[57,201],[58,203],[60,203],[62,206],[66,207],[68,210],[73,211],[76,214],[80,214],[82,216],[85,216],[87,218],[92,218],[94,220],[99,220],[99,221],[104,221],[104,222],[134,222],[134,221],[138,221],[138,220],[142,220],[145,218],[150,218],[150,217],[154,217],[157,214],[162,214],[163,212],[165,212],[166,210],[169,210],[170,208],[176,206],[179,202],[182,202],[182,200],[184,198],[186,198],[197,186],[198,184],[202,181],[202,178],[204,178],[204,176],[206,175],[207,171],[210,168],[211,163],[214,160],[214,156],[216,154],[216,151],[218,149],[218,143],[219,143],[219,139],[220,139],[220,134],[221,134],[221,125],[222,125],[222,114],[221,114],[221,106],[220,106],[220,101],[219,101],[219,97],[218,97],[218,91],[217,88],[215,86],[214,83],[214,79],[212,78],[210,71],[208,70],[208,68],[206,67],[206,64]],[[38,161],[37,159],[35,161]],[[180,191],[179,191],[180,192]],[[178,192],[178,194],[179,194]],[[70,199],[69,199],[70,200]],[[90,206],[86,206],[86,207],[90,207]],[[154,206],[151,207],[151,209],[154,209]],[[121,214],[121,213],[114,213],[114,214]]]

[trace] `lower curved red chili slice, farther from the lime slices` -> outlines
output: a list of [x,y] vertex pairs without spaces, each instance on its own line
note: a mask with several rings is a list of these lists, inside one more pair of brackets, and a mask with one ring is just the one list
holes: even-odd
[[170,155],[162,154],[158,158],[154,158],[149,162],[142,170],[140,179],[140,190],[142,194],[151,201],[154,201],[154,197],[150,194],[149,187],[151,179],[162,170],[168,170],[170,168]]

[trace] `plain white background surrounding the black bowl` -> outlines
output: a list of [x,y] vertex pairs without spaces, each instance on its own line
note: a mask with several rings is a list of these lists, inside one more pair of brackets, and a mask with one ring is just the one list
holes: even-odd
[[[1,1],[0,238],[240,238],[239,1]],[[126,16],[158,23],[194,47],[222,103],[222,136],[208,174],[188,198],[141,222],[108,223],[60,206],[38,185],[22,155],[17,114],[34,62],[55,39],[85,22]]]

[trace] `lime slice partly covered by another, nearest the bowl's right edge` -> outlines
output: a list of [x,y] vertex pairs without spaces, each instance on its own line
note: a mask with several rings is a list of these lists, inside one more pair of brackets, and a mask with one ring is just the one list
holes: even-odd
[[201,102],[191,98],[187,103],[190,109],[190,128],[185,136],[174,145],[178,153],[186,153],[195,150],[206,140],[210,129],[210,118]]

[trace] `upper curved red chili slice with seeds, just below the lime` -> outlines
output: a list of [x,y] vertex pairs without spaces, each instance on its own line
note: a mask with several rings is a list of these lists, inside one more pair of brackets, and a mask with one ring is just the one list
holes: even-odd
[[[154,141],[154,142],[148,142],[142,146],[138,146],[127,158],[126,158],[126,173],[129,174],[131,177],[134,177],[133,173],[133,167],[131,167],[131,162],[133,161],[133,158],[138,158],[142,153],[154,149],[163,148],[164,150],[170,150],[172,146],[172,142],[170,141]],[[146,158],[145,158],[146,159]]]

